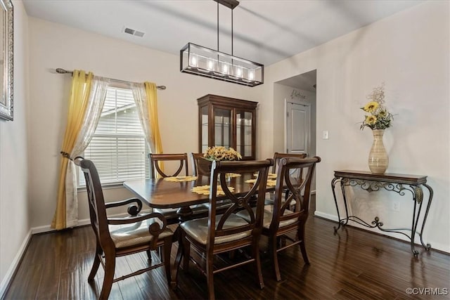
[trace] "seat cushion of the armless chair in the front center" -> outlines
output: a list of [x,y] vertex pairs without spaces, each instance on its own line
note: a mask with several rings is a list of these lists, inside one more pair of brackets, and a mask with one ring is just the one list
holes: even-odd
[[[221,215],[216,216],[216,226],[219,223]],[[232,228],[237,226],[248,225],[248,222],[244,219],[231,214],[229,218],[224,223],[224,229]],[[208,218],[195,219],[191,221],[186,221],[180,224],[181,228],[186,232],[187,235],[193,237],[197,242],[201,244],[206,244],[207,234],[208,234]],[[252,230],[245,231],[243,233],[236,233],[234,235],[224,235],[221,237],[215,237],[214,244],[221,244],[223,242],[231,242],[233,240],[240,240],[248,237],[252,234]]]

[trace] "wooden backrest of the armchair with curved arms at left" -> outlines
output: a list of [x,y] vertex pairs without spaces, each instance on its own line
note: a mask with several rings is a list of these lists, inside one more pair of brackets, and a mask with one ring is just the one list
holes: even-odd
[[98,178],[98,172],[94,162],[91,162],[89,159],[82,159],[79,162],[79,166],[82,168],[84,178],[86,179],[89,216],[92,229],[94,229],[97,240],[103,249],[115,247],[108,229],[105,198],[103,197],[103,189],[101,188],[100,178]]

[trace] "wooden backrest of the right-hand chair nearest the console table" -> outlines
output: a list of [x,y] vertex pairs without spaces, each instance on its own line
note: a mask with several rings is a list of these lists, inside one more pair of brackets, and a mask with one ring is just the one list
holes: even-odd
[[[278,230],[280,222],[290,223],[285,228],[293,228],[306,221],[311,195],[311,181],[316,163],[320,157],[280,159],[276,175],[274,212],[270,230]],[[286,193],[288,190],[288,193]],[[285,210],[294,207],[293,214]]]

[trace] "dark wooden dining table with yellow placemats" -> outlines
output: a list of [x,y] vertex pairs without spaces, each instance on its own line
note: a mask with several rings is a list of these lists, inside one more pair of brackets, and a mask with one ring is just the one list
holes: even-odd
[[[227,185],[233,187],[233,194],[245,195],[252,188],[255,181],[255,175],[246,174],[230,174],[227,177]],[[266,191],[275,190],[275,175],[269,174],[266,184]],[[203,204],[210,201],[209,193],[206,193],[210,185],[210,176],[176,176],[165,178],[149,178],[124,181],[124,187],[134,193],[143,203],[152,208],[160,209],[178,209],[177,215],[179,222],[192,219],[191,206]],[[196,188],[203,187],[204,193],[195,192]],[[218,195],[217,199],[226,200],[226,195]],[[174,233],[174,241],[179,241],[179,227]],[[181,256],[181,243],[179,243],[176,254],[177,259]],[[178,266],[172,266],[172,288],[176,287],[176,274]]]

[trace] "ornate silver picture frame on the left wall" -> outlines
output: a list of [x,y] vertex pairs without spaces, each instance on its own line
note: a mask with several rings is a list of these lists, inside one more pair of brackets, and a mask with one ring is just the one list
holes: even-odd
[[13,121],[13,2],[0,0],[0,118]]

